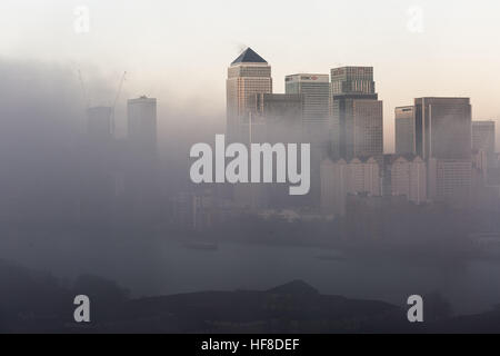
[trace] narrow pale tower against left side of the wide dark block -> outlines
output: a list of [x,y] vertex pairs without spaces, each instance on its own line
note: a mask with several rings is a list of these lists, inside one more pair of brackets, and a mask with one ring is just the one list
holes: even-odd
[[399,107],[396,116],[396,154],[407,155],[414,152],[414,108]]

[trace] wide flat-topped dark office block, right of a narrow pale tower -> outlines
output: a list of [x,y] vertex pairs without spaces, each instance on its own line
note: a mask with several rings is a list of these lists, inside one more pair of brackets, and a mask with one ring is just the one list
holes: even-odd
[[414,99],[416,151],[423,159],[470,159],[469,98]]

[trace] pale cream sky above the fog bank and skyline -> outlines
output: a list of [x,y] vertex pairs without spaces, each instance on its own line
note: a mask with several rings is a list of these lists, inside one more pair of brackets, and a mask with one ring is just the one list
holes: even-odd
[[[77,6],[90,10],[89,33],[73,30]],[[408,28],[412,7],[422,32]],[[127,70],[127,92],[157,97],[160,120],[222,125],[226,70],[246,46],[272,66],[274,92],[289,73],[373,66],[387,151],[394,107],[414,97],[467,96],[473,119],[500,118],[498,0],[2,0],[0,23],[1,57],[98,69],[110,85]]]

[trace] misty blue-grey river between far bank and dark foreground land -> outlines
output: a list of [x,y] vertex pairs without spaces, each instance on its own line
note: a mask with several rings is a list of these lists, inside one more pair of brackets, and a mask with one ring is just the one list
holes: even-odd
[[268,289],[302,279],[322,294],[404,305],[412,294],[439,291],[456,314],[500,304],[500,260],[360,257],[333,249],[220,243],[190,249],[181,239],[4,235],[0,259],[49,271],[71,283],[91,274],[112,279],[133,297],[201,290]]

